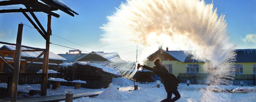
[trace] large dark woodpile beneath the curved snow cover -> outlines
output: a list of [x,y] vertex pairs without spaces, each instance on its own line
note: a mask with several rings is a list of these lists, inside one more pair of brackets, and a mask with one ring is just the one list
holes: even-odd
[[[90,89],[107,88],[112,83],[112,78],[122,77],[108,72],[104,72],[100,68],[92,67],[89,65],[68,66],[59,70],[67,81],[82,80],[86,84],[81,84],[81,87]],[[66,86],[73,86],[72,83],[63,84]]]

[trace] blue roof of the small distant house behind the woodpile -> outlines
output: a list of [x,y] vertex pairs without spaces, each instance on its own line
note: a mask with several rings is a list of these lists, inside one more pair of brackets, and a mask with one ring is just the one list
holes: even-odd
[[61,57],[63,58],[66,58],[68,61],[63,61],[64,62],[75,62],[77,59],[83,57],[84,55],[87,55],[87,54],[58,54],[60,55]]

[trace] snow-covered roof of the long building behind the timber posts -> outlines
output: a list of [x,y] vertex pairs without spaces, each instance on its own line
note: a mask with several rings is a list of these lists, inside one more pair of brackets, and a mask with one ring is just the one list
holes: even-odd
[[[32,50],[30,48],[25,48],[22,47],[22,50]],[[9,45],[4,45],[0,47],[0,50],[4,51],[10,51],[10,50],[15,50],[15,46],[9,46]],[[24,59],[28,62],[31,62],[34,60],[38,55],[40,55],[42,51],[36,51],[36,52],[21,52],[21,59]],[[11,55],[5,55],[5,57],[12,57]],[[42,55],[39,59],[37,59],[35,62],[43,62],[44,55]],[[67,61],[67,59],[54,54],[53,52],[49,52],[49,63],[56,63],[60,64],[63,63],[63,61]]]

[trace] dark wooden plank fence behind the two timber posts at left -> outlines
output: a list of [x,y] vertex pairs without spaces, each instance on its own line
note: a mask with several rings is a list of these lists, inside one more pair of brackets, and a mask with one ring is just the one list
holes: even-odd
[[[28,64],[26,64],[26,65],[28,65]],[[26,67],[26,65],[25,65],[25,67]],[[36,73],[40,69],[42,69],[42,64],[33,63],[27,69],[25,69],[25,73]],[[56,71],[56,70],[59,69],[59,65],[51,65],[51,64],[49,64],[48,69]],[[5,72],[5,73],[12,73],[12,70],[9,68],[9,66],[4,65],[3,72]],[[58,75],[58,74],[48,74],[48,77],[60,77],[60,75]],[[21,85],[21,84],[41,84],[41,81],[42,81],[42,79],[41,79],[40,76],[34,76],[34,77],[33,76],[24,76],[24,77],[20,76],[18,84],[19,85]],[[0,83],[8,83],[8,77],[0,76]]]

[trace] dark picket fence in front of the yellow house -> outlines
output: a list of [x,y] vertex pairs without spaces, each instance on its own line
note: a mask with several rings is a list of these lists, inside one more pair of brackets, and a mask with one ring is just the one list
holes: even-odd
[[[207,79],[209,76],[212,76],[208,73],[179,73],[178,79],[181,83],[187,83],[189,80],[190,84],[209,84],[211,82],[208,82]],[[218,76],[218,75],[217,75]],[[214,78],[214,76],[212,76]],[[255,74],[236,74],[234,80],[228,78],[219,79],[220,81],[230,81],[233,85],[241,85],[240,82],[243,82],[244,85],[256,85],[256,75]],[[216,81],[216,79],[212,79]],[[226,82],[228,83],[228,82]],[[222,84],[222,83],[220,83]],[[225,83],[224,83],[225,84]]]

